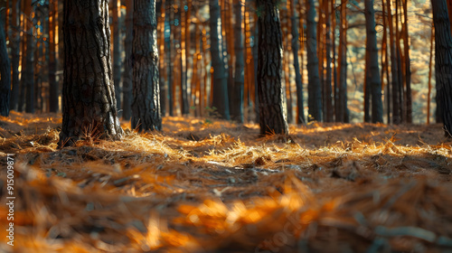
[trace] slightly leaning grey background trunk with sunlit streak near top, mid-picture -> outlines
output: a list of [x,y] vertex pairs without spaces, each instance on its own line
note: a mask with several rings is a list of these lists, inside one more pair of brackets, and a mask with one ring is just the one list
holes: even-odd
[[228,101],[228,75],[224,68],[220,6],[218,0],[209,1],[211,20],[211,54],[212,54],[212,108],[217,108],[221,118],[230,119]]

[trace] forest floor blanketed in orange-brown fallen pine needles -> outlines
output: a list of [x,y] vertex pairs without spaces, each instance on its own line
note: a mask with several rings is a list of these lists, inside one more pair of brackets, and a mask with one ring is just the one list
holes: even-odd
[[[122,141],[61,115],[0,117],[2,252],[444,252],[452,142],[441,125],[257,125],[165,117]],[[6,155],[14,154],[14,247]],[[450,251],[449,251],[450,252]]]

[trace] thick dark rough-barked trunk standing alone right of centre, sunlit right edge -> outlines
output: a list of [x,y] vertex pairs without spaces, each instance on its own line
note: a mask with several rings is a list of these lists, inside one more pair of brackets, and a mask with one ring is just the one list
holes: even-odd
[[282,32],[277,0],[258,0],[258,93],[260,135],[288,134],[282,82]]

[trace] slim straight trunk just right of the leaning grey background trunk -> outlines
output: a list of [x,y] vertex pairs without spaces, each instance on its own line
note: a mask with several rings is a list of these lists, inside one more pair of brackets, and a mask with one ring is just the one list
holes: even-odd
[[245,86],[245,60],[243,56],[243,29],[241,1],[234,0],[234,52],[235,52],[235,73],[234,85],[231,96],[231,119],[243,123],[243,92]]

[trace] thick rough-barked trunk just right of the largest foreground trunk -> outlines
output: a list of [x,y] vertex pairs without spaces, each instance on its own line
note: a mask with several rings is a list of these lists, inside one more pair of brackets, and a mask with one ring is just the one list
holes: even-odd
[[161,130],[155,0],[134,3],[132,128]]

